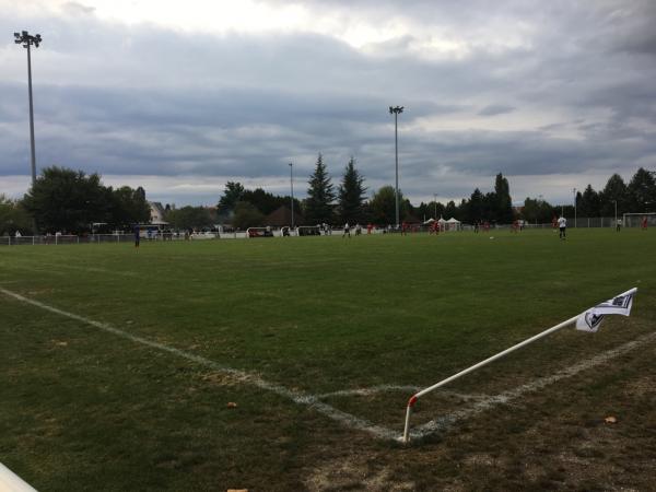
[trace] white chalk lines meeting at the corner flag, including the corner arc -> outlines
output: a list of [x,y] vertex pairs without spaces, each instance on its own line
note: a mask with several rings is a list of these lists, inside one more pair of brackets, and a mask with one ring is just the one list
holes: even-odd
[[[80,315],[77,315],[73,313],[58,309],[57,307],[49,306],[39,301],[34,301],[28,297],[24,297],[21,294],[16,294],[15,292],[8,291],[7,289],[0,288],[0,292],[3,293],[4,295],[13,297],[17,301],[24,302],[26,304],[32,304],[33,306],[40,307],[42,309],[49,311],[50,313],[55,313],[60,316],[66,316],[68,318],[74,319],[77,321],[81,321],[85,325],[90,325],[95,328],[98,328],[103,331],[106,331],[106,332],[116,335],[118,337],[131,340],[136,343],[140,343],[140,344],[150,347],[152,349],[160,350],[162,352],[168,352],[173,355],[177,355],[181,359],[186,359],[196,364],[203,365],[206,367],[210,367],[213,371],[227,374],[245,384],[253,385],[260,389],[266,389],[278,396],[281,396],[283,398],[292,400],[295,403],[305,405],[335,421],[338,421],[351,429],[364,431],[364,432],[373,435],[374,437],[378,437],[382,440],[393,440],[393,441],[400,441],[402,437],[398,432],[395,432],[395,431],[393,431],[388,427],[382,426],[382,425],[376,425],[365,419],[361,419],[351,413],[347,413],[341,410],[338,410],[337,408],[331,407],[330,405],[324,403],[323,401],[319,401],[319,400],[321,398],[327,398],[330,396],[371,395],[371,394],[379,393],[383,390],[401,390],[401,389],[408,389],[408,388],[415,388],[414,386],[380,385],[380,386],[374,386],[372,388],[360,388],[360,389],[353,389],[353,390],[335,391],[335,393],[329,393],[329,394],[319,395],[319,396],[306,394],[306,393],[289,389],[282,385],[278,385],[276,383],[270,383],[266,379],[262,379],[260,376],[258,376],[256,374],[248,373],[246,371],[227,367],[227,366],[219,364],[214,361],[206,359],[203,356],[196,355],[196,354],[192,354],[189,352],[185,352],[184,350],[175,349],[173,347],[165,345],[164,343],[160,343],[156,341],[149,340],[147,338],[139,337],[137,335],[132,335],[128,331],[124,331],[118,328],[115,328],[112,325],[101,323],[101,321],[95,321],[93,319],[85,318],[84,316],[80,316]],[[579,362],[578,364],[574,364],[570,367],[559,371],[558,373],[555,373],[551,376],[535,379],[530,383],[518,386],[508,391],[504,391],[499,395],[482,397],[482,398],[479,396],[469,396],[468,397],[469,399],[478,399],[479,401],[476,401],[469,408],[465,408],[462,410],[457,410],[455,412],[447,413],[446,415],[444,415],[442,418],[434,419],[434,420],[431,420],[430,422],[418,425],[413,431],[411,431],[410,435],[412,438],[420,438],[420,437],[425,437],[427,435],[435,434],[438,432],[444,432],[464,419],[477,415],[477,414],[479,414],[485,410],[489,410],[491,408],[494,408],[499,405],[507,405],[507,403],[512,402],[513,400],[524,396],[527,393],[542,389],[546,386],[549,386],[553,383],[559,382],[560,379],[574,376],[574,375],[581,373],[582,371],[586,371],[586,370],[593,368],[597,365],[604,364],[608,361],[611,361],[612,359],[616,359],[620,355],[625,354],[626,352],[637,349],[639,347],[641,347],[645,343],[649,343],[653,341],[656,341],[656,332],[651,332],[651,333],[644,335],[644,336],[636,338],[635,340],[632,340],[630,342],[626,342],[616,349],[608,350],[608,351],[602,352],[591,359],[588,359],[586,361]],[[467,397],[465,395],[458,395],[458,394],[453,394],[453,393],[450,393],[450,394],[457,395],[457,396],[460,396],[464,398]]]

